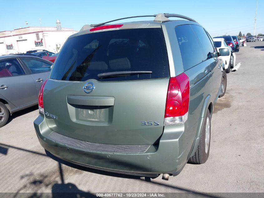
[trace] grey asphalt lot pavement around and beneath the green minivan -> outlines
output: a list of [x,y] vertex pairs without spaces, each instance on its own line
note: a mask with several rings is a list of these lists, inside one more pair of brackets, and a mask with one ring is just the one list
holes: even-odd
[[[212,116],[210,156],[162,180],[109,173],[47,156],[33,127],[38,108],[0,129],[0,192],[264,192],[264,42],[240,47]],[[16,195],[16,194],[15,194]]]

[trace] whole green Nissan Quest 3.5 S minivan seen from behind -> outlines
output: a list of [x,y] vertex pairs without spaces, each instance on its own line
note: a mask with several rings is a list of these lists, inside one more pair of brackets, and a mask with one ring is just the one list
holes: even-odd
[[165,180],[205,163],[226,88],[210,35],[177,14],[104,24],[62,47],[39,94],[40,144],[75,164]]

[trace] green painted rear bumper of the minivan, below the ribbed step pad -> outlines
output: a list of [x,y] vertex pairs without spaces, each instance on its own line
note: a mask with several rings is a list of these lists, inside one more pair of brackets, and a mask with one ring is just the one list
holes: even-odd
[[180,173],[190,152],[181,144],[186,125],[166,126],[158,145],[150,145],[145,152],[129,153],[87,150],[54,140],[50,134],[55,132],[48,127],[43,115],[34,121],[40,144],[53,155],[90,168],[140,176]]

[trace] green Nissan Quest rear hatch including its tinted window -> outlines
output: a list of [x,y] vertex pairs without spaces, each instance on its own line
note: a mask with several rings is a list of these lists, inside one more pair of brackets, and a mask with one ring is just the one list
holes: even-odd
[[45,118],[52,130],[79,140],[155,144],[163,132],[168,83],[162,28],[74,36],[44,87]]

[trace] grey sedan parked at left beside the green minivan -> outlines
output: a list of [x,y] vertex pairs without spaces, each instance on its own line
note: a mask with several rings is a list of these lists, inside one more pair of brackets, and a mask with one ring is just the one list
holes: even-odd
[[0,127],[9,114],[38,104],[38,92],[52,62],[31,55],[0,57]]

